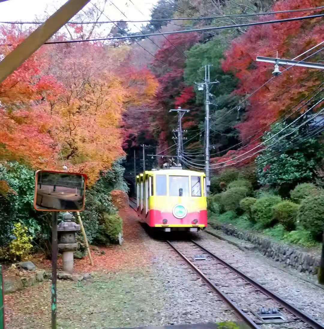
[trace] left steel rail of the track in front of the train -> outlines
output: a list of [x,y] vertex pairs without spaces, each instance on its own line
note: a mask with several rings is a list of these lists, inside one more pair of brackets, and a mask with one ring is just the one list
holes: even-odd
[[207,276],[199,270],[184,254],[181,253],[180,250],[177,249],[176,246],[174,246],[169,240],[166,240],[166,242],[187,262],[188,265],[190,265],[197,273],[198,275],[203,279],[203,281],[212,288],[237,314],[237,316],[242,319],[246,324],[248,324],[253,329],[260,329],[260,326],[258,326],[248,315],[246,315],[237,305],[235,302],[233,302],[229,297],[227,297],[226,294],[224,294],[222,291],[219,290],[217,286],[215,286],[212,281],[210,281]]

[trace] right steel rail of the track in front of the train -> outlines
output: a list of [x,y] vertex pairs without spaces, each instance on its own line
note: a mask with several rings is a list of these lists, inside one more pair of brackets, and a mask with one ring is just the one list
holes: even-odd
[[293,315],[299,317],[302,321],[304,321],[305,323],[307,323],[308,325],[310,325],[312,328],[314,328],[314,329],[324,329],[324,326],[322,326],[319,322],[317,322],[316,320],[314,320],[312,317],[308,316],[306,313],[304,313],[301,310],[299,310],[298,308],[294,307],[293,305],[291,305],[290,303],[288,303],[286,300],[284,300],[283,298],[281,298],[276,293],[274,293],[274,292],[272,292],[272,291],[264,288],[259,282],[257,282],[256,280],[251,279],[250,277],[248,277],[246,274],[244,274],[243,272],[241,272],[236,267],[228,264],[227,262],[225,262],[224,260],[222,260],[221,258],[219,258],[218,256],[216,256],[214,253],[212,253],[211,251],[209,251],[208,249],[206,249],[205,247],[203,247],[201,244],[199,244],[199,243],[197,243],[197,242],[195,242],[193,240],[190,240],[190,242],[192,242],[197,247],[199,247],[202,250],[204,250],[210,256],[214,257],[219,263],[221,263],[225,267],[227,267],[227,268],[231,269],[232,271],[234,271],[235,273],[237,273],[240,277],[242,277],[245,281],[247,281],[248,283],[250,283],[253,287],[255,287],[256,289],[259,289],[265,295],[267,295],[267,296],[273,298],[274,300],[276,300],[279,304],[281,304],[282,306],[284,306],[287,311],[289,311]]

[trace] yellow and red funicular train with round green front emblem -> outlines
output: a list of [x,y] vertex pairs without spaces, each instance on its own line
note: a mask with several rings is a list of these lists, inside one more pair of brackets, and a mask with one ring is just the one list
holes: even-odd
[[148,226],[170,231],[207,227],[206,176],[181,167],[145,171],[136,179],[137,214]]

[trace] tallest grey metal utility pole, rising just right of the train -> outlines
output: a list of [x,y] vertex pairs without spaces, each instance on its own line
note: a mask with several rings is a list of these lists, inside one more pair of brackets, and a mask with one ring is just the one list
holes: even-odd
[[210,92],[209,92],[209,85],[219,83],[219,81],[211,82],[211,74],[210,74],[210,67],[213,66],[212,64],[203,66],[205,68],[205,80],[204,83],[197,84],[198,90],[205,89],[205,174],[206,174],[206,191],[207,195],[210,192],[210,185],[211,185],[211,174],[210,174],[210,145],[209,145],[209,130],[210,130],[210,114],[209,114],[209,105],[210,105]]

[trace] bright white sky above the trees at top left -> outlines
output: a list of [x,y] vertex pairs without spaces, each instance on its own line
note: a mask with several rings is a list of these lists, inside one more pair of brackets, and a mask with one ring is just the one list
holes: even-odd
[[[0,21],[33,21],[35,18],[42,19],[46,16],[46,13],[52,14],[55,9],[60,8],[66,0],[9,0],[0,3]],[[111,20],[145,20],[150,19],[150,9],[157,0],[112,0],[112,2],[127,16],[122,15],[110,1],[105,6],[104,13]],[[98,1],[96,1],[98,3]],[[87,7],[92,6],[88,3]],[[102,16],[102,21],[107,20],[105,16]],[[71,19],[73,21],[73,18]],[[136,23],[138,27],[145,23]],[[138,29],[129,23],[129,27],[132,32],[137,32]]]

